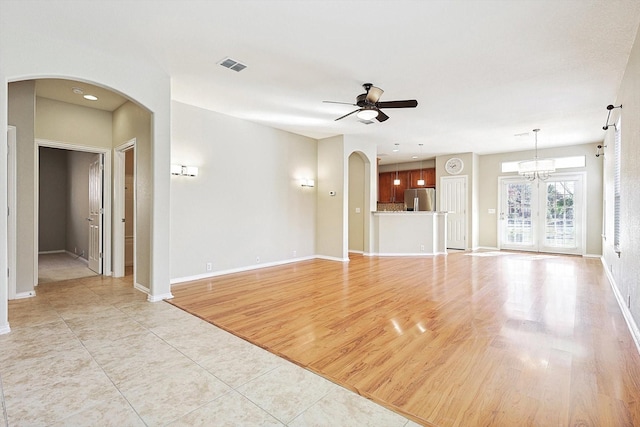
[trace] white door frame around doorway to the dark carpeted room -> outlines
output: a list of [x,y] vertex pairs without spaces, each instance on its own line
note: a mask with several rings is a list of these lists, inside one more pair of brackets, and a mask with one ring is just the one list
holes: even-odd
[[[34,267],[34,277],[38,277],[38,229],[39,229],[39,199],[40,199],[40,147],[49,147],[49,148],[59,148],[62,150],[69,151],[83,151],[86,153],[95,153],[102,154],[103,158],[103,179],[102,179],[102,194],[111,194],[111,149],[100,148],[100,147],[91,147],[88,145],[80,145],[73,144],[70,142],[61,142],[61,141],[52,141],[48,139],[36,138],[36,149],[35,149],[35,165],[34,174],[34,259],[33,259],[33,267]],[[103,230],[102,230],[102,275],[103,276],[111,276],[111,198],[110,197],[102,197],[102,211],[103,213]],[[37,280],[36,280],[37,282]],[[36,283],[37,285],[37,283]]]

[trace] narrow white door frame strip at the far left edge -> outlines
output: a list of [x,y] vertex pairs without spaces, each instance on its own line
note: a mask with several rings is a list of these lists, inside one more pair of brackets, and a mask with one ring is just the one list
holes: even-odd
[[9,268],[8,279],[8,298],[10,300],[16,298],[16,274],[17,261],[16,251],[18,248],[18,240],[16,233],[18,231],[18,223],[16,216],[17,202],[17,176],[16,176],[16,127],[8,126],[7,129],[7,206],[9,215],[7,216],[7,267]]

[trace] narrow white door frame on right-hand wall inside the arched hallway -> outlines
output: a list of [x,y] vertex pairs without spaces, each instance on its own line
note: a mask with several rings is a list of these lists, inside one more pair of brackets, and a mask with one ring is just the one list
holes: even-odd
[[136,283],[136,138],[113,149],[113,276],[124,276],[125,231],[120,227],[125,216],[125,157],[133,149],[133,282]]

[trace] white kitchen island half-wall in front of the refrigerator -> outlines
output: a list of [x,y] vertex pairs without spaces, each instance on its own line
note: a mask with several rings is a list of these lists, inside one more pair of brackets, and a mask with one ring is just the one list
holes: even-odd
[[416,256],[447,253],[447,213],[373,212],[373,253]]

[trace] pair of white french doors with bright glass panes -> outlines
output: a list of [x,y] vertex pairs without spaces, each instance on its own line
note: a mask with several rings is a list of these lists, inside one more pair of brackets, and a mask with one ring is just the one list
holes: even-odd
[[500,249],[584,254],[584,174],[500,178]]

